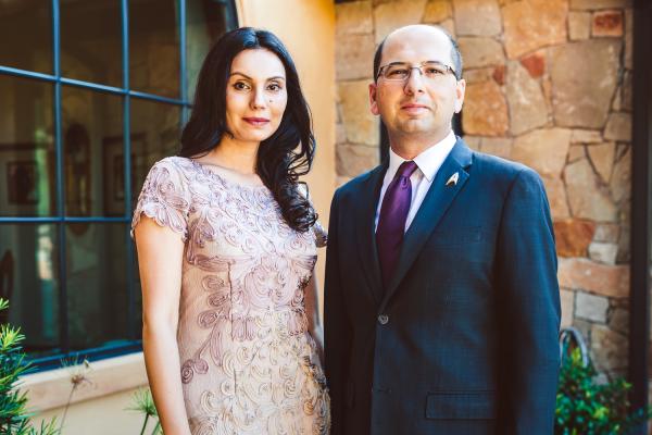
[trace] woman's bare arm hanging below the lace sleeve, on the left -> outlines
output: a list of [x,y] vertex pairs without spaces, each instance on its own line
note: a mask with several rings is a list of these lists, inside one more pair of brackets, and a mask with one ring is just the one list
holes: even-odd
[[145,365],[165,435],[190,435],[176,341],[184,241],[145,214],[135,228],[142,287]]

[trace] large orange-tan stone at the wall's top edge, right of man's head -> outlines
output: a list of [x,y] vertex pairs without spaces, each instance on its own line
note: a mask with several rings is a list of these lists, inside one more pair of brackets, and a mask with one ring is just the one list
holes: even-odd
[[566,41],[566,0],[529,0],[503,8],[505,50],[510,59]]

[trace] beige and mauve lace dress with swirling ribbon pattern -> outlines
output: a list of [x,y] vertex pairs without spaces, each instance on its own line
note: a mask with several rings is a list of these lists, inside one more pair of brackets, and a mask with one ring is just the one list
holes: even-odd
[[195,435],[327,434],[329,399],[304,288],[325,234],[291,229],[272,192],[171,157],[134,213],[185,241],[177,341]]

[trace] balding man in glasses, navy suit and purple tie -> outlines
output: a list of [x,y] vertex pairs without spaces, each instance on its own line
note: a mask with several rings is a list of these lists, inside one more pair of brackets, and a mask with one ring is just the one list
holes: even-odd
[[530,169],[451,130],[456,44],[390,34],[371,110],[389,161],[333,199],[325,355],[334,435],[550,435],[559,370],[556,256]]

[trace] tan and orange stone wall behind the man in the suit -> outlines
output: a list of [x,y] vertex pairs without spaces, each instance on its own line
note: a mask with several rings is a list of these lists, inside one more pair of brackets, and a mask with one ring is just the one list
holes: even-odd
[[564,326],[603,371],[627,365],[631,0],[374,0],[337,14],[338,183],[378,163],[367,86],[377,44],[406,24],[456,37],[467,144],[543,178],[560,257]]

